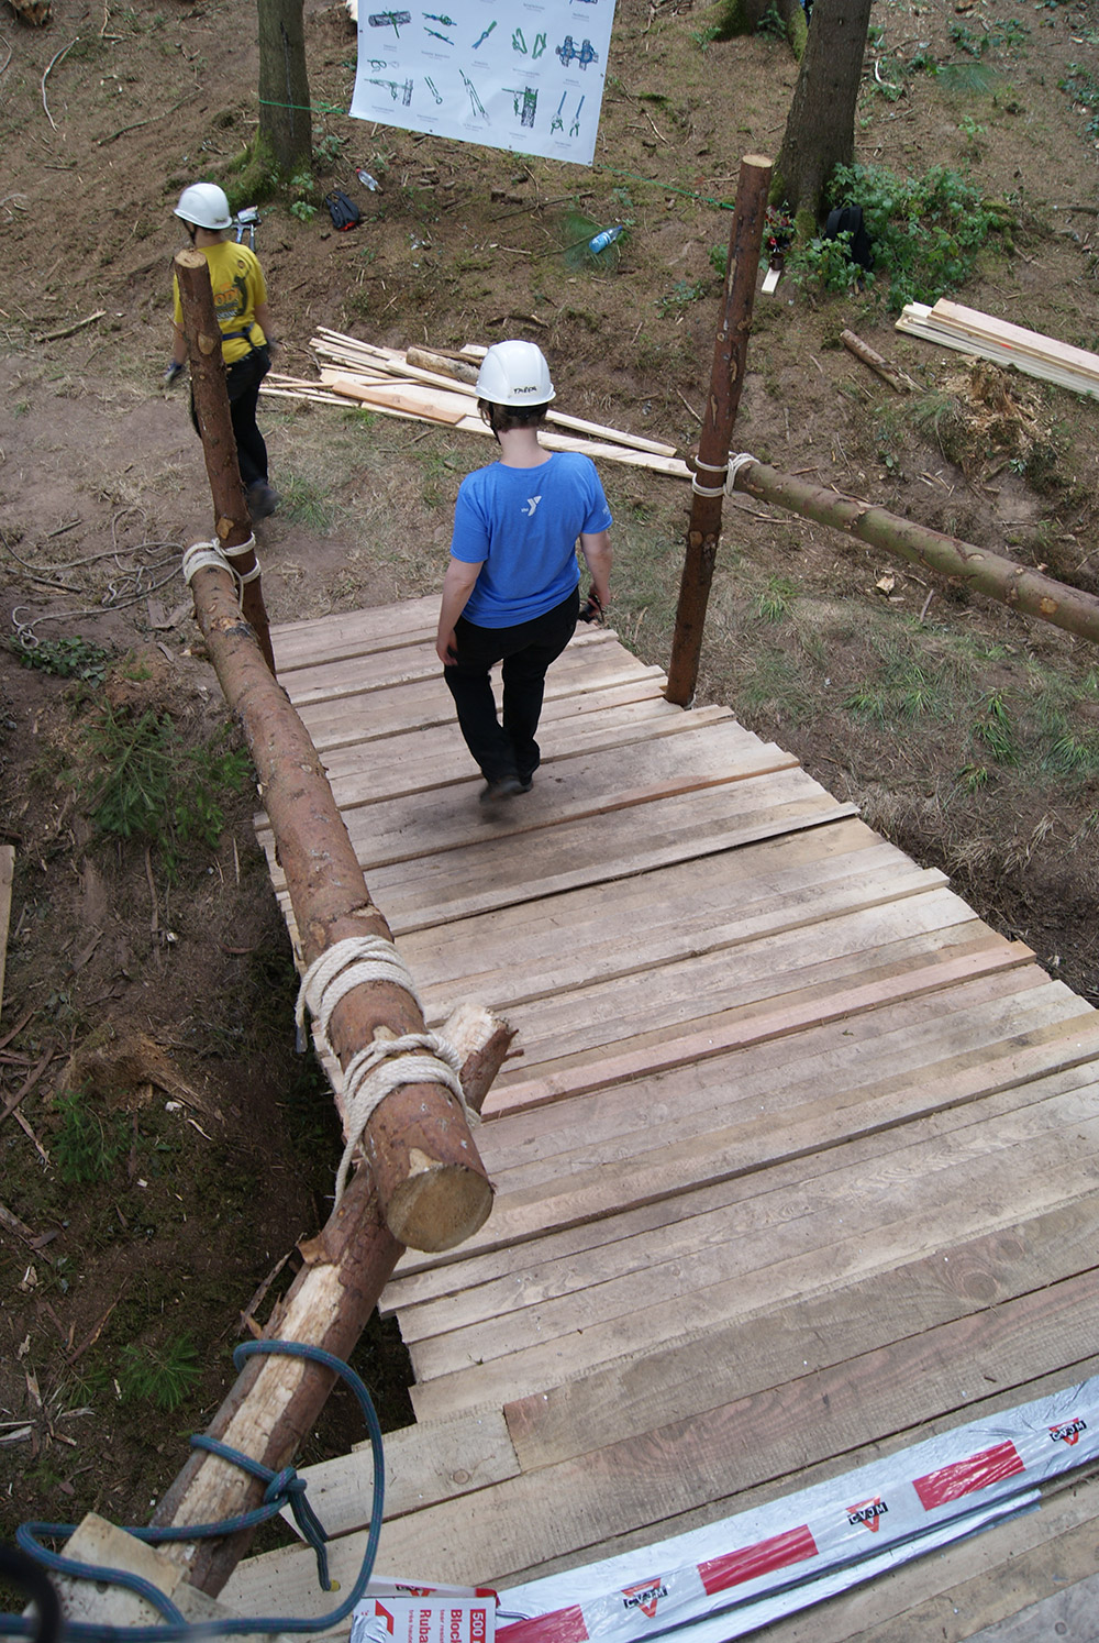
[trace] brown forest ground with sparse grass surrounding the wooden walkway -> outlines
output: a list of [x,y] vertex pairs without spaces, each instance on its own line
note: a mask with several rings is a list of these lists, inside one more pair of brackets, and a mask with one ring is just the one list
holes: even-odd
[[[563,409],[692,450],[720,294],[711,251],[728,242],[720,202],[741,154],[777,150],[795,79],[780,41],[715,43],[713,21],[690,0],[619,0],[586,171],[352,122],[338,112],[352,25],[307,5],[317,186],[347,187],[363,223],[335,233],[324,214],[261,205],[279,368],[312,375],[319,324],[401,345],[531,335]],[[956,294],[1096,348],[1097,151],[1089,110],[1060,89],[1071,64],[1094,62],[1094,8],[895,0],[874,23],[859,159],[899,174],[946,164],[1004,200],[1010,230]],[[0,30],[0,624],[110,652],[107,680],[82,682],[0,649],[0,840],[16,851],[0,1111],[31,1081],[0,1124],[0,1203],[23,1227],[0,1229],[5,1538],[23,1518],[92,1507],[148,1518],[182,1464],[181,1434],[232,1378],[241,1311],[289,1257],[256,1303],[266,1316],[296,1240],[324,1219],[338,1157],[325,1091],[292,1053],[294,971],[255,795],[227,792],[218,843],[189,845],[174,876],[158,845],[146,854],[90,820],[89,736],[108,698],[168,715],[187,749],[225,725],[176,570],[209,531],[209,491],[186,396],[163,393],[159,373],[171,205],[197,176],[232,182],[256,118],[253,36],[228,0],[56,0],[48,28],[8,16]],[[69,41],[44,108],[43,74]],[[928,59],[959,72],[931,74]],[[961,72],[974,66],[984,77]],[[613,268],[565,255],[577,219],[628,222]],[[839,347],[844,325],[918,391],[900,399],[871,376]],[[287,403],[266,404],[263,426],[286,499],[261,527],[274,621],[440,585],[453,496],[485,444]],[[871,294],[821,297],[787,276],[759,299],[738,444],[1089,591],[1097,434],[1094,403],[974,378],[899,337]],[[605,481],[614,624],[667,662],[687,491],[626,468]],[[1096,680],[1094,652],[1063,633],[729,501],[700,698],[731,703],[945,866],[1092,1002]],[[72,1056],[118,1147],[77,1183],[57,1148]],[[179,1372],[181,1341],[194,1374]],[[133,1344],[151,1390],[126,1377]],[[378,1332],[358,1367],[383,1420],[409,1418],[393,1336]],[[172,1378],[182,1397],[166,1408]],[[337,1405],[315,1452],[358,1436]]]

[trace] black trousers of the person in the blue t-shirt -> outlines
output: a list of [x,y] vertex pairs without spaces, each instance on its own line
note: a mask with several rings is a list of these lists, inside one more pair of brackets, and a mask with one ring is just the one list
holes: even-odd
[[[552,611],[516,628],[478,628],[458,616],[455,641],[458,660],[444,667],[442,677],[458,710],[465,744],[486,782],[506,775],[529,780],[539,767],[540,749],[534,739],[545,695],[545,670],[573,636],[580,610],[573,591]],[[496,716],[490,669],[503,662],[504,721]]]

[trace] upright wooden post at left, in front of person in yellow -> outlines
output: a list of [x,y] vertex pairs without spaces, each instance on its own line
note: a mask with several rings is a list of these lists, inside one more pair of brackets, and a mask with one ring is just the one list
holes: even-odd
[[[191,361],[191,391],[194,411],[202,435],[205,472],[214,496],[214,521],[217,539],[233,570],[246,577],[256,568],[245,486],[237,460],[237,440],[225,391],[225,360],[222,357],[222,327],[214,312],[210,269],[202,251],[179,251],[176,256],[179,301],[182,302],[187,358]],[[260,577],[245,582],[240,608],[251,624],[263,659],[274,674],[271,628]]]

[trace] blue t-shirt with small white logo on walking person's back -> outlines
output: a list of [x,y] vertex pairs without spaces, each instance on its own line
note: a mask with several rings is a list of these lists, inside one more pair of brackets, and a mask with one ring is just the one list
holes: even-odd
[[580,580],[577,537],[596,536],[611,511],[590,457],[555,450],[539,468],[493,462],[458,490],[450,552],[481,565],[463,616],[513,628],[544,616]]

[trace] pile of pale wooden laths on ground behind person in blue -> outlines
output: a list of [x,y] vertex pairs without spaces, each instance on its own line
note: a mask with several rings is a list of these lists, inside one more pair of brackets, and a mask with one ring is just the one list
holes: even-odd
[[[309,343],[320,366],[319,381],[281,376],[271,371],[263,393],[340,404],[355,401],[381,416],[437,422],[463,434],[490,435],[476,409],[476,366],[485,348],[470,345],[458,355],[429,353],[422,348],[383,348],[338,330],[322,329]],[[600,422],[550,409],[542,434],[549,450],[582,450],[596,462],[624,462],[674,478],[688,480],[690,468],[675,455],[675,445],[642,439]]]

